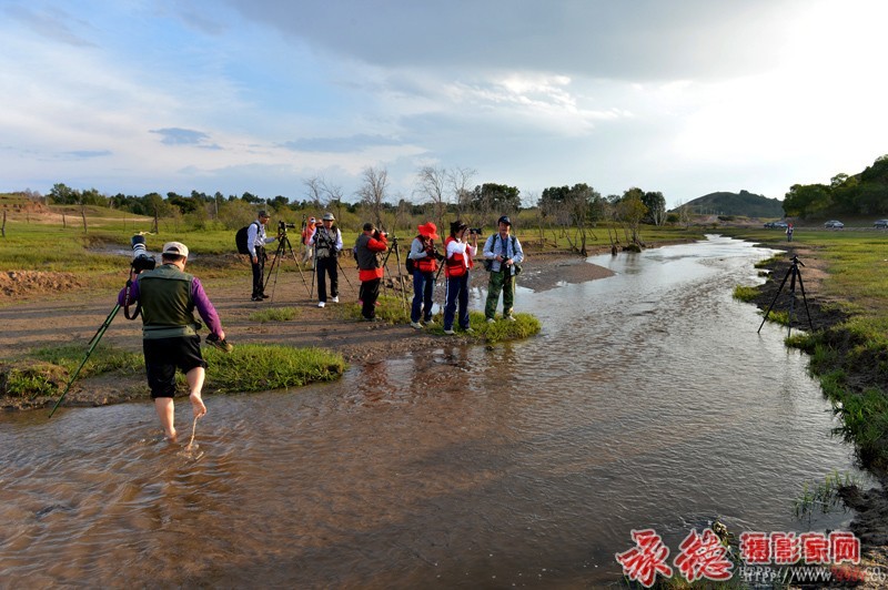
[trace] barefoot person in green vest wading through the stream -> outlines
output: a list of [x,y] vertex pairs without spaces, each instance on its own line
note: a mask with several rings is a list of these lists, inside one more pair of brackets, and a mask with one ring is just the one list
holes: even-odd
[[206,414],[201,398],[206,362],[201,356],[201,338],[196,332],[200,323],[194,318],[194,309],[210,328],[208,342],[225,340],[219,314],[203,285],[198,277],[184,272],[188,254],[184,244],[168,242],[161,253],[161,266],[139,273],[132,285],[123,287],[118,295],[120,305],[135,302],[141,305],[142,350],[151,399],[165,437],[173,442],[176,368],[185,374],[194,418]]

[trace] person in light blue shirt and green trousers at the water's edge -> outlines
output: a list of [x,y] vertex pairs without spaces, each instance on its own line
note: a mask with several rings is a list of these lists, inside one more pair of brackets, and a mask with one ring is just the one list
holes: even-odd
[[488,261],[490,281],[487,283],[487,302],[484,315],[488,324],[495,322],[496,304],[500,302],[500,292],[503,292],[503,318],[515,322],[512,309],[515,305],[515,276],[521,272],[518,266],[524,260],[521,242],[511,235],[512,221],[503,215],[496,222],[498,232],[491,235],[484,243],[484,257]]

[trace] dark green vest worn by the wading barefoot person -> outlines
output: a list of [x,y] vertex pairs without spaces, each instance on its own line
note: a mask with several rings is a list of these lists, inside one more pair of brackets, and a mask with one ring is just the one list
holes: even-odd
[[194,336],[200,324],[194,319],[191,284],[194,277],[171,264],[139,275],[142,304],[142,336],[147,340]]

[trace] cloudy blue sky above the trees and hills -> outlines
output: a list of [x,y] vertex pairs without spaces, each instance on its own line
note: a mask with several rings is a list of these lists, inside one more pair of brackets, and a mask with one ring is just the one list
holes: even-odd
[[885,0],[0,0],[0,192],[783,199],[888,153]]

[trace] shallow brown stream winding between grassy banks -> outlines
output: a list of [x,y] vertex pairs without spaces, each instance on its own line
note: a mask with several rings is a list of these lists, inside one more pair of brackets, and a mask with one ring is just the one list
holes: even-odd
[[714,238],[596,257],[617,275],[519,291],[537,338],[211,396],[198,460],[142,404],[3,416],[4,582],[595,584],[633,528],[674,551],[716,517],[803,530],[803,484],[851,460],[805,358],[731,299],[769,254]]

